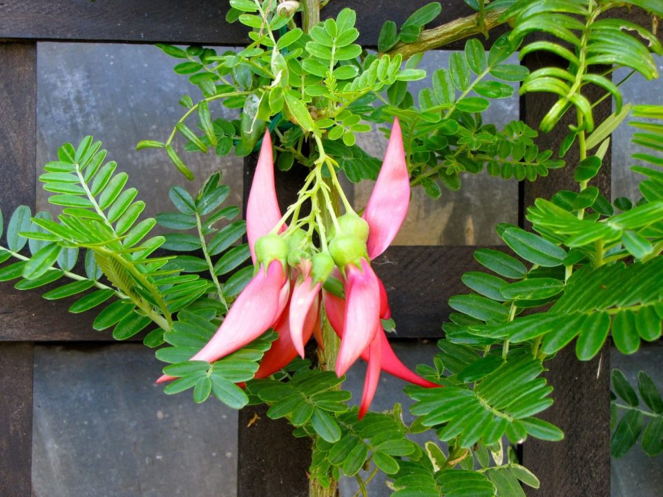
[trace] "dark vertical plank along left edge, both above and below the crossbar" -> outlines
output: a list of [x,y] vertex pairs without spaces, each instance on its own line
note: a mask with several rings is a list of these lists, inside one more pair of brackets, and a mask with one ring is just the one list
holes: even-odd
[[[37,45],[0,43],[0,207],[35,206]],[[32,343],[0,344],[0,495],[32,493]]]

